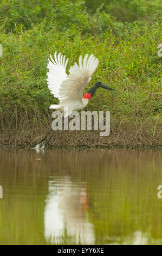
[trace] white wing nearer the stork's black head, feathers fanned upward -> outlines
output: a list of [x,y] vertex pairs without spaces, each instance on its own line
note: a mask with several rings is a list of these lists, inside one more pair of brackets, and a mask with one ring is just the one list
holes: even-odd
[[69,103],[71,101],[81,101],[84,89],[95,69],[99,64],[99,60],[91,54],[88,54],[82,60],[79,57],[79,65],[75,62],[74,66],[69,69],[69,75],[63,80],[59,89],[60,104]]

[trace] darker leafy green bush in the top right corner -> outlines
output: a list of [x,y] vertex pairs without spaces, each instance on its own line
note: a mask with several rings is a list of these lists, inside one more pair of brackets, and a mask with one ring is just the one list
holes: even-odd
[[102,5],[102,11],[122,22],[143,19],[155,21],[162,16],[161,0],[86,0],[85,2],[93,13]]

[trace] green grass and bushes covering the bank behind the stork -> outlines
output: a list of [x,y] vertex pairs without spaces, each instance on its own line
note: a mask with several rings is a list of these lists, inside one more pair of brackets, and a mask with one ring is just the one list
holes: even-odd
[[[47,62],[61,51],[68,68],[93,53],[100,64],[88,87],[99,80],[116,89],[99,90],[88,103],[87,110],[111,111],[111,135],[105,141],[94,135],[88,146],[160,145],[161,7],[159,0],[1,1],[0,142],[29,144],[46,132],[48,107],[58,102],[47,87]],[[85,132],[77,136],[75,145],[87,145]]]

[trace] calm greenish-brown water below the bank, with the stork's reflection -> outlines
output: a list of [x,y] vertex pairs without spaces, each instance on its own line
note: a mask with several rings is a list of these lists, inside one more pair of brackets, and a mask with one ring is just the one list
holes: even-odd
[[162,244],[161,150],[0,150],[1,245]]

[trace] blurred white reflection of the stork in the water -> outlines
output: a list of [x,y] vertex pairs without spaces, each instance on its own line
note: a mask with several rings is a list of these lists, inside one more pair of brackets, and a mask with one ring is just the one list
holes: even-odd
[[[83,186],[83,184],[82,184]],[[93,224],[88,222],[86,187],[75,184],[69,177],[49,182],[49,194],[44,212],[44,234],[47,242],[93,245]]]

